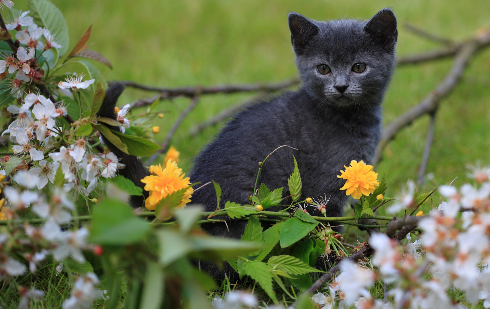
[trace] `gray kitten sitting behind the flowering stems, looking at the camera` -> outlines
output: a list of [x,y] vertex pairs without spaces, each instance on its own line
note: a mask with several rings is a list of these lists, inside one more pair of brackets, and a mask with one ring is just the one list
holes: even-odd
[[[326,215],[343,216],[347,197],[339,190],[344,180],[337,175],[351,160],[369,163],[379,142],[381,102],[392,75],[398,35],[396,18],[385,8],[364,22],[317,22],[297,13],[290,13],[288,20],[302,87],[235,115],[196,157],[191,182],[214,179],[221,185],[222,201],[245,204],[258,162],[277,147],[289,145],[298,150],[284,147],[271,155],[259,184],[284,187],[283,197],[289,196],[294,155],[303,181],[302,199],[331,196]],[[213,186],[198,190],[192,202],[213,211]],[[282,204],[290,202],[291,198]],[[314,207],[308,211],[321,215]],[[202,227],[213,235],[240,238],[245,224]]]

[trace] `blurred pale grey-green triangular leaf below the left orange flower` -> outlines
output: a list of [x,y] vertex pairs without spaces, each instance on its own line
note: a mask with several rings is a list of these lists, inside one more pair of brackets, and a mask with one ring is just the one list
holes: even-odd
[[158,229],[158,262],[167,266],[192,251],[192,243],[181,233],[171,229]]

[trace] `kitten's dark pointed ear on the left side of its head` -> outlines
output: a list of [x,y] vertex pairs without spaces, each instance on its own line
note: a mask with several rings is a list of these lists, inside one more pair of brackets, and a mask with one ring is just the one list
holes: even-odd
[[303,54],[308,41],[318,34],[319,28],[306,17],[298,13],[289,13],[289,29],[291,30],[291,44],[297,55]]

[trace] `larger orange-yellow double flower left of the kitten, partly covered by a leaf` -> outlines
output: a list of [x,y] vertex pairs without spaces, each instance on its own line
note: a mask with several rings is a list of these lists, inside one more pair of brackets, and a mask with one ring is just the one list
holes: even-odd
[[[141,182],[146,184],[145,190],[149,191],[149,196],[145,200],[145,207],[149,210],[154,210],[156,204],[168,195],[187,188],[191,184],[189,177],[184,178],[185,174],[182,174],[182,169],[179,169],[177,163],[170,159],[167,160],[167,165],[163,170],[158,164],[158,166],[150,166],[149,171],[153,175],[141,179]],[[184,207],[190,202],[192,192],[192,188],[187,189],[177,207]]]

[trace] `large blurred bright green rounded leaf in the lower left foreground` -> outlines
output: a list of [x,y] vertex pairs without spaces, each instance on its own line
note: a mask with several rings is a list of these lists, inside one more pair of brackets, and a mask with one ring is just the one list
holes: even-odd
[[133,211],[117,199],[104,199],[98,203],[92,217],[93,243],[122,245],[141,241],[150,225],[133,215]]

